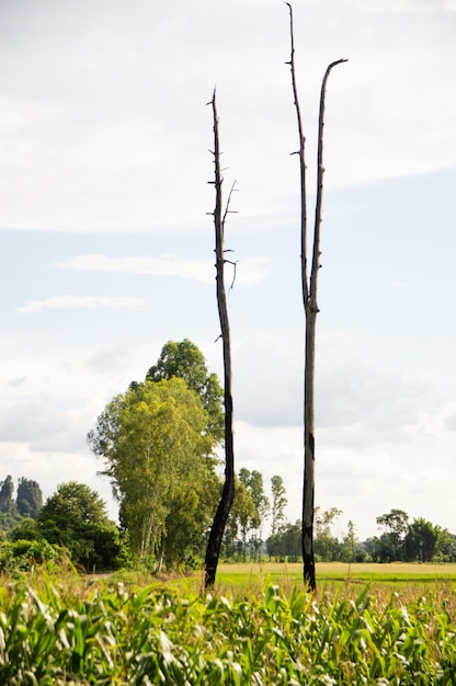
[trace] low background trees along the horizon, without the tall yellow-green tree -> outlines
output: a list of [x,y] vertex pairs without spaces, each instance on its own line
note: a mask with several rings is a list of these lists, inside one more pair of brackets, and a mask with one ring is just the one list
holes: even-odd
[[[139,558],[127,530],[109,519],[106,505],[96,491],[83,483],[69,481],[58,485],[43,502],[39,485],[21,478],[14,498],[9,476],[0,482],[0,571],[30,570],[41,562],[60,564],[71,561],[81,571],[115,570],[136,565]],[[22,487],[21,487],[22,484]],[[18,499],[30,494],[22,514]],[[33,484],[33,485],[32,485]],[[21,487],[21,488],[20,488]],[[7,498],[8,495],[8,498]],[[214,498],[213,505],[216,505]],[[301,561],[301,523],[288,522],[283,479],[274,476],[271,492],[264,490],[263,477],[241,468],[236,478],[236,496],[228,519],[221,559],[226,562]],[[33,514],[33,516],[29,516]],[[337,507],[316,508],[315,554],[317,561],[342,562],[455,562],[456,536],[423,517],[409,522],[402,510],[377,517],[379,536],[361,541],[356,527],[349,522],[346,531],[337,536],[334,525],[342,512]],[[264,540],[263,527],[271,534]],[[186,518],[183,518],[184,531]],[[179,519],[175,521],[178,526]],[[174,535],[173,535],[174,536]],[[207,529],[195,523],[193,536],[181,544],[179,553],[167,556],[167,567],[176,568],[185,558],[186,567],[198,567],[204,559]],[[173,538],[174,540],[174,538]],[[155,565],[149,567],[152,571]]]

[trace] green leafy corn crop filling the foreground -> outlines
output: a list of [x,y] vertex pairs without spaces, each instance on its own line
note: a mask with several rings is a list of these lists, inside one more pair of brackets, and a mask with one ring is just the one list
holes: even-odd
[[0,683],[454,684],[456,594],[445,582],[425,595],[369,584],[312,595],[285,579],[204,596],[195,579],[3,579]]

